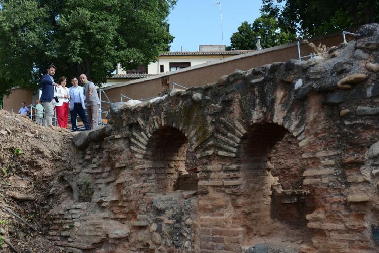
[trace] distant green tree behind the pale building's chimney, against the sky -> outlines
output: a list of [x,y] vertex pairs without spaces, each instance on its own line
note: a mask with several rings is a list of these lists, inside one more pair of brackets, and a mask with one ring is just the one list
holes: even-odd
[[231,36],[231,47],[228,50],[256,49],[256,37],[261,36],[262,48],[269,48],[281,44],[287,44],[296,39],[295,33],[285,32],[279,29],[275,18],[263,14],[253,24],[243,22],[237,28],[238,32]]

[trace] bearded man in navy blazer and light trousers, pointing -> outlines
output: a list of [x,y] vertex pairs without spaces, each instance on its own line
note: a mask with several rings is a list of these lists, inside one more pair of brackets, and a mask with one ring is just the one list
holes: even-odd
[[57,83],[54,82],[53,76],[55,74],[56,67],[54,65],[49,66],[47,70],[48,73],[42,76],[41,86],[42,86],[42,94],[39,99],[42,103],[43,109],[45,111],[45,115],[43,117],[43,126],[52,125],[52,119],[54,115],[54,93],[55,86],[58,86]]

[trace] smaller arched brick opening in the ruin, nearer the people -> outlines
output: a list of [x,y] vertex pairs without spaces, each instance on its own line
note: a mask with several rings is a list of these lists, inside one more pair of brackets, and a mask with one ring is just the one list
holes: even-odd
[[154,193],[197,190],[197,168],[187,151],[188,140],[180,130],[165,126],[153,133],[148,152],[154,170]]

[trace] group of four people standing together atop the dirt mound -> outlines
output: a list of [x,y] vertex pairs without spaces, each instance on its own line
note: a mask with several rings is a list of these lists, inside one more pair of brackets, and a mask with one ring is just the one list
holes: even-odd
[[[76,117],[79,115],[86,130],[96,129],[99,123],[100,100],[93,82],[88,81],[85,74],[80,75],[83,87],[78,85],[78,79],[71,77],[72,87],[67,88],[68,79],[61,76],[58,83],[54,82],[55,66],[50,66],[48,73],[41,79],[42,95],[40,103],[44,109],[43,125],[52,124],[54,107],[57,113],[58,125],[67,128],[68,111],[71,114],[72,131],[77,131]],[[85,101],[87,102],[87,116],[85,115]]]

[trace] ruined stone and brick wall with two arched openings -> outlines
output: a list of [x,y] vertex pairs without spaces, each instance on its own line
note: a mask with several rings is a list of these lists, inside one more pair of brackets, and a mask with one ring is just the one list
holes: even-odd
[[358,33],[326,60],[114,104],[106,128],[73,139],[79,200],[52,210],[49,238],[72,252],[284,250],[283,240],[377,252],[379,25]]

